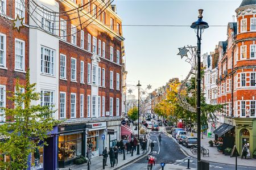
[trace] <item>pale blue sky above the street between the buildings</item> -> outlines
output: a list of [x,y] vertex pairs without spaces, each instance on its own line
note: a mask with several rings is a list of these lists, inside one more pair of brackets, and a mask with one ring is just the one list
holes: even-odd
[[[151,84],[151,92],[166,85],[169,79],[184,79],[190,65],[177,56],[178,48],[196,46],[196,33],[189,27],[197,20],[198,9],[203,8],[203,20],[210,27],[202,35],[202,53],[214,51],[218,41],[226,40],[226,25],[233,22],[236,8],[242,1],[133,1],[115,0],[117,14],[122,18],[125,37],[127,88],[133,90],[138,80],[142,89]],[[236,19],[235,19],[236,21]],[[188,25],[187,27],[130,27],[142,25]],[[223,25],[214,27],[211,25]]]

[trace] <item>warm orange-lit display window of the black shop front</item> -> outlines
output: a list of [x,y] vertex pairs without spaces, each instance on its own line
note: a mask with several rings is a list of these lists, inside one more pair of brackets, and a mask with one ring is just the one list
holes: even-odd
[[82,134],[59,136],[58,159],[68,161],[82,154]]

